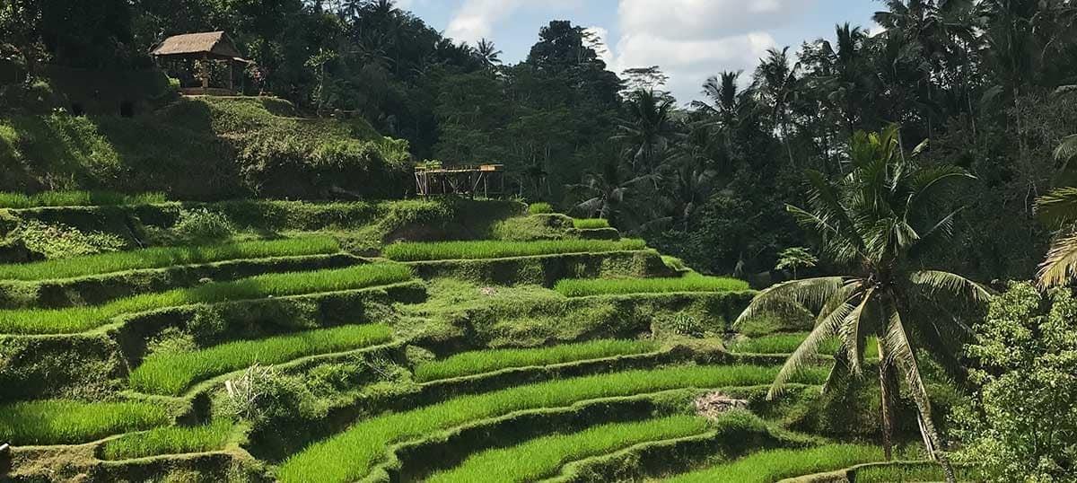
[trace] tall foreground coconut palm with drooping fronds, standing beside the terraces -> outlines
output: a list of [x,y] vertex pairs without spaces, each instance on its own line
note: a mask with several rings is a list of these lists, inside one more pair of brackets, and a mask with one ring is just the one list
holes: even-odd
[[831,337],[840,341],[840,349],[824,391],[847,375],[862,375],[867,337],[878,336],[887,459],[894,427],[894,381],[901,376],[918,410],[927,450],[942,464],[948,481],[953,481],[946,454],[935,451],[942,444],[932,419],[917,349],[922,343],[937,350],[959,350],[953,343],[960,343],[962,330],[967,328],[960,317],[950,315],[951,308],[957,303],[982,303],[990,292],[962,276],[921,268],[914,256],[926,242],[949,234],[957,211],[933,217],[932,208],[951,181],[970,175],[951,166],[918,166],[914,155],[907,157],[901,152],[896,127],[879,134],[856,133],[848,155],[851,170],[847,176],[830,181],[809,170],[809,207],[788,207],[822,242],[823,254],[845,273],[764,290],[737,323],[764,313],[785,314],[797,306],[817,310],[815,329],[779,372],[771,398],[813,362],[821,344]]

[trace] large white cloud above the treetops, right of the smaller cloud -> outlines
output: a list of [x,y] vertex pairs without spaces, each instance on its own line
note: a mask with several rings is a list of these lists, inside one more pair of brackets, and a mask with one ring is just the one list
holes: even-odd
[[[699,98],[710,75],[751,71],[771,33],[815,0],[619,0],[620,38],[611,70],[660,66],[682,102]],[[747,77],[744,78],[745,80]]]

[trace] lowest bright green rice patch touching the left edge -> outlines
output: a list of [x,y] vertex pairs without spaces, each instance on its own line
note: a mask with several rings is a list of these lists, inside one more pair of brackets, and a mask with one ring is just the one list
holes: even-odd
[[24,401],[0,405],[0,441],[76,444],[170,422],[168,409],[158,403]]

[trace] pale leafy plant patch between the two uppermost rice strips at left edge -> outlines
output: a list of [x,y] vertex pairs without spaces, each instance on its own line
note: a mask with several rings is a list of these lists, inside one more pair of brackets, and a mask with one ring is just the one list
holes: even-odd
[[116,235],[84,233],[64,224],[46,224],[37,220],[23,221],[10,236],[23,240],[26,248],[48,260],[120,251],[127,246],[127,242]]

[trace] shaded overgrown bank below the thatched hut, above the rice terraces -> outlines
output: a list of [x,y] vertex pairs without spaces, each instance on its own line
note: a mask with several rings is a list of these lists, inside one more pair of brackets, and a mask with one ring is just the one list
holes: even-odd
[[183,98],[137,115],[0,118],[0,191],[163,192],[176,199],[395,197],[406,141],[268,97]]

